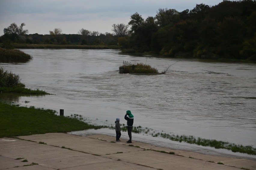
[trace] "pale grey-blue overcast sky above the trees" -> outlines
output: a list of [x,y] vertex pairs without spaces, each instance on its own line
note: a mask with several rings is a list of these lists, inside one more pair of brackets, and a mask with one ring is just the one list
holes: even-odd
[[155,16],[159,8],[181,12],[196,4],[214,6],[223,0],[0,0],[0,36],[15,22],[29,34],[49,34],[61,28],[63,34],[78,34],[81,28],[110,32],[113,24],[128,24],[138,12],[144,19]]

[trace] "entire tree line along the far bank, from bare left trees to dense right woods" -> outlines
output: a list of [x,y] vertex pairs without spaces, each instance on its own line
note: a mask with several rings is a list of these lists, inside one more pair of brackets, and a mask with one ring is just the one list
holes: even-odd
[[119,45],[123,52],[154,53],[169,57],[256,60],[256,1],[223,0],[215,6],[196,4],[192,10],[159,9],[143,19],[136,12],[128,25],[113,24],[113,33],[84,28],[78,34],[62,34],[60,28],[47,35],[28,34],[12,23],[0,41]]

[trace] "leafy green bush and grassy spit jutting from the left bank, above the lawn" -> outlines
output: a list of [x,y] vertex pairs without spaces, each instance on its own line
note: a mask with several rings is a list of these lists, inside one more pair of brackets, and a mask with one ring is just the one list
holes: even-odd
[[3,68],[0,68],[0,91],[2,93],[16,92],[33,95],[50,95],[50,93],[43,90],[25,88],[25,84],[20,82],[19,75],[5,71]]

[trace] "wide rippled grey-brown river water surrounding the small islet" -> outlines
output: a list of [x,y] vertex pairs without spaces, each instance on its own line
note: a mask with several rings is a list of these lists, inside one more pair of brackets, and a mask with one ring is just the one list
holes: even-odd
[[[98,125],[114,125],[116,117],[125,124],[131,110],[134,126],[256,145],[255,64],[138,57],[117,50],[22,51],[33,59],[0,67],[20,75],[27,88],[54,95],[0,94],[0,100],[64,109],[66,116],[79,114]],[[159,72],[173,65],[162,75],[119,74],[123,61],[146,63]]]

